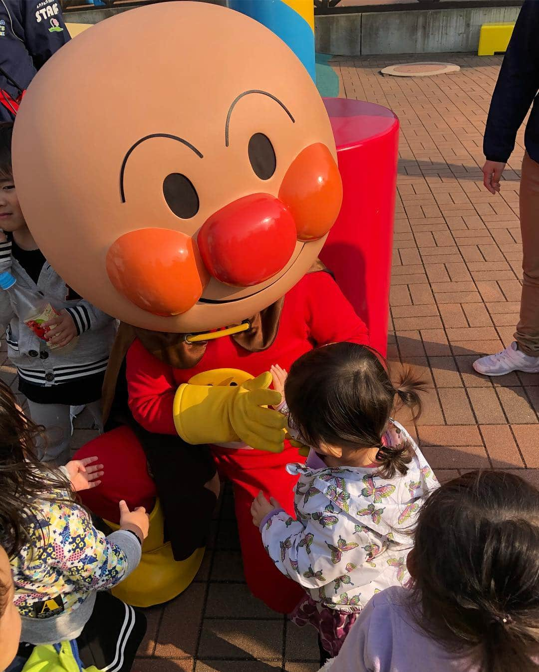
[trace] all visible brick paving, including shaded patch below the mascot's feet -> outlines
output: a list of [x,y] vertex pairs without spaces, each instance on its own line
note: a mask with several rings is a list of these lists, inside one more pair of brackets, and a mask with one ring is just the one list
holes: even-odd
[[[444,56],[428,56],[444,60]],[[390,358],[429,380],[412,431],[441,478],[478,466],[518,470],[537,482],[539,376],[489,380],[471,362],[511,341],[520,298],[517,190],[522,133],[501,196],[483,190],[481,138],[501,58],[452,54],[456,75],[382,77],[417,58],[335,59],[341,95],[392,108],[401,119],[401,161],[391,292]],[[13,382],[15,372],[3,366]],[[93,435],[83,415],[75,444]],[[138,672],[309,672],[318,669],[314,631],[299,630],[250,597],[243,581],[232,499],[216,513],[194,584],[147,610]]]

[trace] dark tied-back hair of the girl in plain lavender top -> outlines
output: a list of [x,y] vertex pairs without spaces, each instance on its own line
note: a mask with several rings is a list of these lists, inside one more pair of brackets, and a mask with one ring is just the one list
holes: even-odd
[[481,672],[528,672],[539,653],[539,491],[469,472],[421,509],[411,556],[419,625]]

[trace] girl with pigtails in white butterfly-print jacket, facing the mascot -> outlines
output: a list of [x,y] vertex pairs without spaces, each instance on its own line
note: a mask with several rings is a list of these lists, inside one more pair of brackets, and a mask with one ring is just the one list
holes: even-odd
[[438,482],[391,413],[404,404],[419,417],[424,385],[412,370],[393,384],[382,357],[356,343],[320,347],[288,376],[272,374],[290,435],[310,451],[286,467],[299,476],[295,518],[264,493],[251,513],[278,569],[306,589],[292,621],[319,630],[325,660],[370,597],[409,580],[408,528]]

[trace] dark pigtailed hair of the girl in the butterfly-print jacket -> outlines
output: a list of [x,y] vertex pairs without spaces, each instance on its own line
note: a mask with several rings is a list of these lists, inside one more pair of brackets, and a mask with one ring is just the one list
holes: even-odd
[[410,368],[394,386],[382,355],[366,345],[331,343],[302,355],[290,368],[284,396],[292,422],[314,448],[376,448],[378,474],[407,473],[412,459],[408,442],[383,446],[395,396],[421,413],[423,381]]

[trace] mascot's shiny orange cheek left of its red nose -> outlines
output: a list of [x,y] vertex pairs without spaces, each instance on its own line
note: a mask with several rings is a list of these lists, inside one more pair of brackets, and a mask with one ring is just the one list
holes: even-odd
[[120,236],[107,253],[110,282],[142,310],[169,317],[189,310],[208,284],[193,239],[168,228]]

